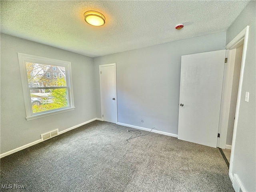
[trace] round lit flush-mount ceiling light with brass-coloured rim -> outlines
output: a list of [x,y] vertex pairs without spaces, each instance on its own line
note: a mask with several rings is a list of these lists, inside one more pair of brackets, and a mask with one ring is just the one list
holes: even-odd
[[84,20],[86,23],[93,26],[102,26],[105,24],[105,17],[97,11],[86,11],[84,13]]

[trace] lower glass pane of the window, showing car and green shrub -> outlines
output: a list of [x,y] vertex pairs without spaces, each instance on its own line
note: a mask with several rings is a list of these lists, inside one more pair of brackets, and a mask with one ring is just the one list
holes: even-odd
[[30,90],[33,113],[68,107],[66,88]]

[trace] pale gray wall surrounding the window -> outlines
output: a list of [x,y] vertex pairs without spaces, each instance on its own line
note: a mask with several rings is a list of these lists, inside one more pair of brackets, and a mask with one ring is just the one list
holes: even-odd
[[[76,109],[26,120],[17,52],[70,61]],[[93,59],[1,34],[1,154],[40,139],[40,134],[65,130],[96,117]]]

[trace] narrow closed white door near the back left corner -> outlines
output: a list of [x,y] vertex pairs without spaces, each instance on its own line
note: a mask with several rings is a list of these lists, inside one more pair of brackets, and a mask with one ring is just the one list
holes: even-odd
[[116,64],[100,65],[100,98],[102,120],[117,122]]

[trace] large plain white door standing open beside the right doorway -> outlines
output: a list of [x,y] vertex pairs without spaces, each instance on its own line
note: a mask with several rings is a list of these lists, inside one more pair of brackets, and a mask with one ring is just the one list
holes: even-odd
[[181,57],[178,139],[217,146],[225,54]]

